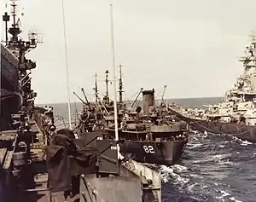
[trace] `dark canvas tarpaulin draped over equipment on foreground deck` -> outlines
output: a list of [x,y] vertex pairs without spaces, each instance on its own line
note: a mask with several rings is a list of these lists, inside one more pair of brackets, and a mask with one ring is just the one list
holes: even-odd
[[68,136],[55,135],[53,144],[46,147],[46,155],[53,192],[71,190],[72,176],[96,173],[96,150],[78,147]]

